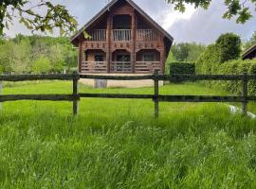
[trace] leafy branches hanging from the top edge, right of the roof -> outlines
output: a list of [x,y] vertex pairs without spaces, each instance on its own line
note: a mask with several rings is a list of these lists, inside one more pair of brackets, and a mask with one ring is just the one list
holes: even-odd
[[[168,3],[174,4],[174,9],[181,12],[186,10],[186,4],[192,4],[195,8],[208,9],[211,1],[212,0],[167,0]],[[231,19],[236,16],[236,23],[245,24],[247,20],[252,17],[249,8],[251,5],[255,5],[255,3],[255,0],[224,0],[227,11],[224,13],[223,18]]]

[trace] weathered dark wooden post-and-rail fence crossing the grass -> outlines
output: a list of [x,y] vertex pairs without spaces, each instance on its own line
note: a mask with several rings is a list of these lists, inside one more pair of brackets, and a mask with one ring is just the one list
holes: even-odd
[[[78,92],[78,80],[80,78],[91,79],[111,79],[111,80],[154,80],[154,94],[84,94]],[[247,114],[247,103],[256,101],[256,96],[248,96],[247,86],[249,80],[256,80],[256,75],[159,75],[155,71],[154,75],[146,76],[97,76],[79,75],[78,73],[65,75],[3,75],[0,81],[25,81],[25,80],[72,80],[72,94],[5,94],[0,95],[0,102],[15,100],[52,100],[73,102],[73,114],[78,112],[78,101],[81,98],[137,98],[153,99],[155,103],[155,117],[159,114],[159,102],[240,102],[243,105],[243,113]],[[221,95],[162,95],[159,94],[159,81],[198,81],[198,80],[231,80],[242,81],[242,95],[221,96]]]

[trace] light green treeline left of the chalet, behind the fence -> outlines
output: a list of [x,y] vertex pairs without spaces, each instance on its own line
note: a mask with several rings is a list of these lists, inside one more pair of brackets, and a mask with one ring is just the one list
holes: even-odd
[[17,35],[0,39],[0,72],[60,73],[77,67],[77,50],[67,38]]

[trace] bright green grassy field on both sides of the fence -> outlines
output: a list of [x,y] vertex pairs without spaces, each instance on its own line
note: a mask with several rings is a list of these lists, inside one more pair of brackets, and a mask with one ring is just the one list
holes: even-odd
[[[71,82],[8,85],[4,94],[70,94]],[[86,93],[153,94],[144,89]],[[161,94],[225,94],[170,84]],[[1,188],[255,188],[256,120],[225,104],[82,99],[4,103],[0,114]],[[254,105],[251,105],[253,111]]]

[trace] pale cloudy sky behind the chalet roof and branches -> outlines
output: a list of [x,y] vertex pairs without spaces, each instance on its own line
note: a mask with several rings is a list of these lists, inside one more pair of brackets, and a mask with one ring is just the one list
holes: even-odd
[[[33,2],[35,0],[31,0]],[[78,20],[82,27],[105,5],[107,0],[52,0],[62,4]],[[236,24],[235,19],[225,20],[222,15],[226,10],[224,0],[212,0],[210,9],[194,9],[186,6],[186,11],[180,13],[165,0],[134,0],[137,5],[147,12],[160,26],[163,26],[173,37],[175,43],[196,42],[214,43],[222,33],[233,32],[241,36],[243,41],[250,38],[256,31],[256,11],[254,17],[245,25]],[[253,10],[253,6],[251,6]],[[42,10],[43,11],[43,10]],[[30,31],[17,22],[5,31],[9,37],[18,33],[29,35]]]

